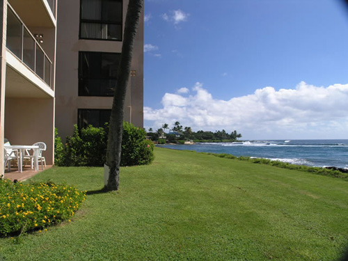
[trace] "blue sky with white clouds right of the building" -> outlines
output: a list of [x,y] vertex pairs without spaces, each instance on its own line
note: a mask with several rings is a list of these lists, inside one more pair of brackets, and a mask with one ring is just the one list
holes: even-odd
[[339,0],[145,0],[144,127],[348,139]]

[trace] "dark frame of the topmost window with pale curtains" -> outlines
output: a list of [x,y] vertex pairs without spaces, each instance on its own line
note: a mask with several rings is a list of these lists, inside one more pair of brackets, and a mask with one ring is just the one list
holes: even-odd
[[[80,0],[80,17],[79,17],[79,39],[81,40],[97,40],[97,41],[113,41],[113,42],[122,42],[123,40],[123,0],[115,0],[121,3],[121,22],[108,22],[108,21],[104,21],[103,19],[100,20],[93,20],[93,19],[82,19],[82,1],[84,0]],[[103,1],[103,0],[101,0]],[[103,15],[103,5],[102,8],[100,8],[100,11]],[[113,24],[113,25],[120,25],[121,26],[121,35],[120,35],[120,39],[104,39],[104,38],[86,38],[86,37],[82,37],[81,36],[81,24],[82,23],[91,23],[91,24],[100,24],[100,26],[102,26],[102,24]]]

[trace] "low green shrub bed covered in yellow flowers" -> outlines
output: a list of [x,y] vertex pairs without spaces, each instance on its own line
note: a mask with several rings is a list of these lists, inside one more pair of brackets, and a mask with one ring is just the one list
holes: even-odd
[[68,220],[85,199],[84,192],[66,184],[0,180],[0,235],[42,229]]

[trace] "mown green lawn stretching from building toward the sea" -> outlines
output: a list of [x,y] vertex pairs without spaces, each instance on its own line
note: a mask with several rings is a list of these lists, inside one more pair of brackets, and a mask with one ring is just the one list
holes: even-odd
[[52,168],[33,180],[89,191],[70,223],[0,239],[0,260],[337,260],[348,244],[348,182],[155,148],[150,166]]

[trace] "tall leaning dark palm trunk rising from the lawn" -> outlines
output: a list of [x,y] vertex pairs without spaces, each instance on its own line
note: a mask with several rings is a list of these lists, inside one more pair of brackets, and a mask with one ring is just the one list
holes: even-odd
[[136,31],[139,25],[143,0],[129,0],[123,34],[122,53],[118,65],[117,84],[111,108],[109,140],[106,149],[106,166],[109,177],[104,189],[118,190],[120,184],[120,160],[122,149],[122,129],[127,85],[132,63],[132,53]]

